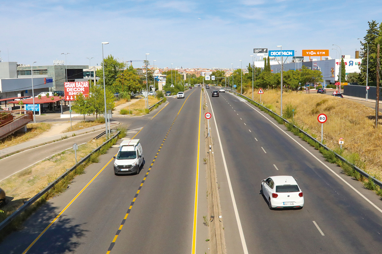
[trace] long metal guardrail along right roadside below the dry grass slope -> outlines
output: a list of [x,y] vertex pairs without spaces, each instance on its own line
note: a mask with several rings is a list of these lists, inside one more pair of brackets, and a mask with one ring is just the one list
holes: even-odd
[[[282,116],[280,116],[280,115],[278,115],[277,113],[273,112],[272,110],[270,110],[270,109],[264,107],[264,106],[261,105],[260,103],[255,102],[255,101],[252,101],[252,99],[250,99],[250,98],[248,98],[248,97],[246,97],[246,96],[243,96],[242,94],[240,94],[240,93],[238,93],[238,92],[234,92],[234,91],[232,91],[232,90],[231,90],[230,92],[235,93],[235,94],[237,94],[238,96],[241,96],[241,97],[247,99],[248,101],[251,101],[251,102],[255,103],[256,105],[258,105],[258,106],[264,108],[264,109],[267,110],[269,113],[274,114],[274,115],[280,117],[281,119],[283,119],[283,121],[286,122],[287,124],[292,124],[292,123],[289,122],[287,119],[284,119]],[[324,148],[325,150],[328,150],[328,151],[333,152],[333,153],[335,154],[335,156],[336,156],[339,160],[341,160],[342,162],[344,162],[344,163],[346,163],[347,165],[349,165],[350,167],[352,167],[354,170],[356,170],[358,173],[360,173],[360,174],[363,175],[364,177],[366,177],[366,178],[371,177],[376,185],[378,185],[379,187],[382,187],[382,181],[376,179],[374,176],[369,175],[368,173],[366,173],[365,171],[363,171],[362,169],[360,169],[360,168],[357,167],[356,165],[354,165],[354,164],[348,162],[348,161],[347,161],[344,157],[342,157],[340,154],[338,154],[338,153],[336,153],[335,151],[333,151],[332,149],[328,148],[326,145],[322,144],[322,143],[319,142],[317,139],[315,139],[315,138],[313,138],[312,136],[310,136],[308,133],[306,133],[306,132],[304,132],[303,130],[299,129],[296,125],[294,125],[294,124],[292,124],[292,125],[293,125],[293,127],[296,128],[299,132],[303,133],[305,136],[307,136],[308,138],[310,138],[310,139],[313,140],[314,142],[317,142],[318,145],[319,145],[320,147]]]

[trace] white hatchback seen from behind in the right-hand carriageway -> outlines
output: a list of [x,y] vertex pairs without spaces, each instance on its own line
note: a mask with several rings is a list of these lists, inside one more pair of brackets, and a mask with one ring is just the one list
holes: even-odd
[[303,192],[296,181],[292,176],[271,176],[261,181],[261,194],[269,209],[303,208]]

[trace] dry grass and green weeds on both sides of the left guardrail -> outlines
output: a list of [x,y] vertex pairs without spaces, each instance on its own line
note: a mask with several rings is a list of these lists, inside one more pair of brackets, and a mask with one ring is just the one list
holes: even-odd
[[[120,129],[120,131],[121,133],[117,139],[121,139],[126,136],[126,130]],[[0,242],[3,241],[8,234],[21,229],[23,221],[32,215],[47,200],[65,192],[75,176],[85,173],[87,166],[92,163],[98,163],[98,157],[101,154],[106,153],[106,151],[117,142],[117,139],[113,139],[99,151],[93,153],[92,156],[86,160],[86,162],[70,172],[60,182],[49,189],[48,192],[45,193],[38,201],[13,219],[12,222],[1,231]],[[77,150],[77,161],[80,161],[81,158],[85,157],[104,141],[105,139],[92,140],[84,145],[80,145]],[[29,200],[38,194],[50,182],[56,180],[67,169],[73,167],[74,165],[74,151],[72,149],[68,149],[1,181],[0,184],[2,188],[7,193],[7,197],[11,197],[11,199],[6,206],[1,208],[4,212],[0,212],[0,222],[21,207],[23,205],[23,201]]]

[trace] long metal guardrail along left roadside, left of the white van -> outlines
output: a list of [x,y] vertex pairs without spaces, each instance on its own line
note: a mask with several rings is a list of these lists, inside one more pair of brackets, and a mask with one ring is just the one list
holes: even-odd
[[80,160],[76,165],[74,165],[73,167],[68,169],[64,174],[59,176],[56,180],[54,180],[53,182],[49,183],[49,185],[46,186],[43,190],[41,190],[41,192],[36,194],[30,200],[26,201],[21,207],[19,207],[16,211],[14,211],[11,215],[9,215],[5,220],[3,220],[2,223],[0,223],[0,231],[3,230],[9,223],[11,223],[11,221],[14,218],[16,218],[20,213],[25,211],[26,208],[30,207],[39,198],[41,198],[46,192],[48,192],[49,189],[51,189],[54,185],[56,185],[59,181],[61,181],[65,176],[67,176],[70,172],[75,170],[79,165],[83,164],[86,160],[88,160],[88,158],[90,158],[90,156],[92,156],[93,153],[99,151],[104,145],[106,145],[107,143],[111,142],[112,139],[118,137],[119,133],[120,133],[120,131],[118,131],[112,138],[106,140],[100,146],[98,146],[96,149],[94,149],[91,153],[89,153],[84,158],[82,158],[82,160]]

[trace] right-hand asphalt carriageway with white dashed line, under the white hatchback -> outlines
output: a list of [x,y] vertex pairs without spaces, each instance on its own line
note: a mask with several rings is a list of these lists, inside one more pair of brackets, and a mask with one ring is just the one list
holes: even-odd
[[[317,150],[289,133],[297,142],[292,140],[283,132],[284,126],[267,114],[260,111],[270,120],[228,92],[220,93],[219,98],[211,98],[207,92],[214,113],[210,124],[227,253],[381,251],[382,213],[350,186],[380,209],[381,201],[374,193],[341,174],[338,167],[324,162]],[[237,205],[236,215],[213,118]],[[269,210],[260,194],[260,183],[272,175],[292,175],[298,180],[305,197],[302,210]],[[241,223],[237,223],[237,216]]]

